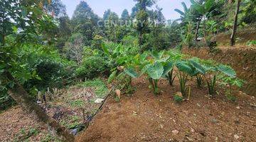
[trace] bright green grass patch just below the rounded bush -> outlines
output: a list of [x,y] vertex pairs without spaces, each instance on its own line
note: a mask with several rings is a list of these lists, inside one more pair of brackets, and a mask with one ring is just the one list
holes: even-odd
[[77,85],[78,87],[94,87],[95,94],[97,95],[97,97],[100,97],[100,98],[105,97],[105,94],[107,94],[108,92],[106,84],[100,79],[87,80]]

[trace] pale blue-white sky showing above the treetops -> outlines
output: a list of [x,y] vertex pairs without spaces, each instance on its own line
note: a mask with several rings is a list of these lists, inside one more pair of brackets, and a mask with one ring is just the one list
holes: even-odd
[[[73,16],[73,12],[75,11],[75,6],[77,6],[81,0],[62,0],[63,4],[65,4],[68,16],[71,18]],[[122,11],[127,9],[129,13],[132,11],[132,7],[135,5],[133,0],[84,0],[89,4],[92,10],[100,17],[103,16],[104,11],[107,9],[111,9],[119,16],[121,16]],[[174,11],[174,9],[183,9],[181,6],[181,2],[184,1],[187,6],[190,6],[189,0],[159,0],[157,5],[160,8],[163,8],[162,12],[166,20],[175,20],[179,18],[179,14]]]

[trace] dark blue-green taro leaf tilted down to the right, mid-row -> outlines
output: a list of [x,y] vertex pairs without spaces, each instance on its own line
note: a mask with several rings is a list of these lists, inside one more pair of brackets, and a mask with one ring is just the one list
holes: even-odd
[[196,75],[196,70],[192,67],[188,62],[185,61],[178,61],[176,62],[176,67],[181,72],[186,72],[188,75]]

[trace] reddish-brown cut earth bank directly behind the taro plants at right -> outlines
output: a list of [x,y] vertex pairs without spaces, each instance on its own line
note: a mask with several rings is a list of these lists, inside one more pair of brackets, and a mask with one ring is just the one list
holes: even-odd
[[256,47],[239,45],[218,47],[218,53],[209,53],[207,48],[184,48],[183,53],[202,59],[213,59],[232,66],[240,79],[247,83],[242,91],[256,96]]

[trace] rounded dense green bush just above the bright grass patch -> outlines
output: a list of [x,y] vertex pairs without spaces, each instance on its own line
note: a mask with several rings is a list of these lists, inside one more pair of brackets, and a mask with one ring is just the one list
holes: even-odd
[[110,72],[107,62],[100,56],[94,55],[86,58],[81,67],[76,70],[76,75],[82,79],[95,78],[99,75],[108,75]]

